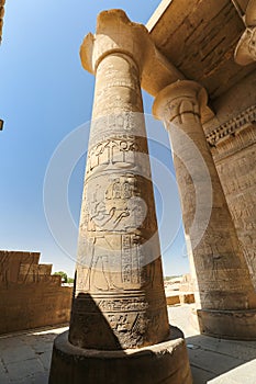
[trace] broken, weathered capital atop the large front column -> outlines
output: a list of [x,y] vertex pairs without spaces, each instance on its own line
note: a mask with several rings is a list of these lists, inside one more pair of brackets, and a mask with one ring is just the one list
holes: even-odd
[[145,57],[154,49],[147,29],[129,20],[122,10],[101,12],[96,34],[89,33],[80,47],[82,67],[96,74],[99,63],[109,54],[131,56],[142,71]]

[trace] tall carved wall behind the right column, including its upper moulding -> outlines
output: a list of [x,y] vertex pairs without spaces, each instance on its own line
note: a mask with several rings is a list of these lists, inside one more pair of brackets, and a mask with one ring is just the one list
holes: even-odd
[[245,117],[244,126],[234,118],[233,135],[223,133],[212,155],[256,289],[256,123]]

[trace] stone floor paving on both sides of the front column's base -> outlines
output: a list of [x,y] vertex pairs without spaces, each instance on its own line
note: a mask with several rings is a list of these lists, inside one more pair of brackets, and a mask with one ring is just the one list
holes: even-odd
[[[168,312],[170,323],[185,332],[194,384],[256,384],[256,341],[199,335],[189,320],[189,304],[171,306]],[[47,384],[53,340],[66,329],[0,337],[0,384]]]

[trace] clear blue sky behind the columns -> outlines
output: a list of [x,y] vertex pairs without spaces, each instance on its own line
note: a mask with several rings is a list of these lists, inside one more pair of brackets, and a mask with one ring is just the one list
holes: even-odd
[[[43,191],[46,169],[56,148],[82,124],[87,133],[89,129],[94,79],[81,68],[79,46],[88,32],[94,32],[101,10],[121,8],[132,21],[145,24],[159,2],[7,1],[0,47],[0,117],[4,120],[0,132],[0,249],[41,251],[41,262],[53,263],[54,271],[64,270],[73,276],[86,135],[84,157],[73,165],[68,183],[76,229],[65,240],[56,238],[47,225]],[[151,114],[153,100],[145,92],[143,97],[145,113]],[[151,115],[146,121],[164,270],[166,275],[180,274],[188,272],[189,266],[168,136]],[[53,194],[56,183],[55,180],[51,184]],[[57,211],[53,214],[62,216]]]

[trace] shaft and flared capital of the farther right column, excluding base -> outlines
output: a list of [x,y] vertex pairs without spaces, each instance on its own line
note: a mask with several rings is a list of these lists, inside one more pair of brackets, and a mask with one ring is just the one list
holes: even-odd
[[[183,104],[181,112],[180,100],[182,99]],[[190,101],[190,99],[193,99],[193,101]],[[253,284],[249,279],[245,259],[240,249],[237,234],[230,215],[225,195],[205,140],[201,122],[193,118],[193,114],[197,115],[198,110],[193,109],[193,103],[197,103],[200,110],[205,108],[205,90],[193,81],[181,80],[166,87],[159,92],[155,100],[154,112],[157,117],[167,122],[166,126],[169,131],[174,153],[183,156],[181,157],[183,162],[186,160],[185,167],[180,167],[179,161],[174,157],[181,201],[185,201],[187,197],[188,185],[183,180],[188,180],[188,173],[190,173],[190,176],[194,174],[192,181],[194,183],[196,193],[204,187],[203,184],[207,184],[209,176],[208,183],[209,187],[211,187],[209,191],[212,194],[212,203],[209,206],[209,216],[203,224],[205,225],[205,229],[201,234],[201,218],[203,218],[203,215],[208,211],[208,201],[205,200],[204,202],[204,196],[199,194],[200,201],[203,202],[200,208],[196,205],[197,199],[191,202],[192,207],[190,204],[182,204],[186,237],[188,239],[188,247],[191,250],[191,260],[193,260],[200,290],[200,305],[202,308],[211,309],[231,308],[232,305],[236,309],[247,309],[255,305]],[[166,106],[169,108],[169,104],[170,110],[168,114],[168,109]],[[182,113],[182,118],[178,118],[179,113]],[[171,123],[169,123],[170,121]],[[197,146],[197,151],[201,156],[200,166],[197,166],[196,157],[192,155],[192,146],[190,146],[187,151],[188,156],[185,156],[187,155],[186,146],[183,145],[183,140],[177,135],[177,132],[179,133],[180,131]],[[208,176],[207,172],[204,174],[202,172],[203,165],[208,168]],[[210,193],[208,193],[209,200]],[[198,218],[197,213],[199,214]],[[190,226],[191,222],[196,224],[194,231],[192,231],[193,228],[190,229],[192,227]],[[194,246],[193,242],[197,245]],[[225,300],[221,302],[220,295],[225,297]]]

